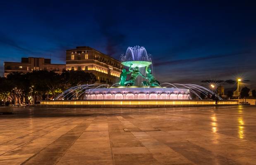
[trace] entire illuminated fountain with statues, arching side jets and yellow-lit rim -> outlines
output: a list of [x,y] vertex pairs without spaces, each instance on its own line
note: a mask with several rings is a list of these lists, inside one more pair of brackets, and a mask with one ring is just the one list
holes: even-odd
[[[120,61],[124,67],[120,80],[113,85],[91,84],[69,88],[54,101],[58,104],[86,104],[86,105],[214,105],[215,101],[192,100],[191,94],[202,99],[199,93],[206,97],[217,94],[205,87],[194,84],[162,83],[152,73],[152,57],[144,47],[128,47],[122,54]],[[61,100],[61,101],[59,101]],[[71,102],[69,101],[71,100]],[[180,100],[180,101],[176,101]],[[73,101],[73,102],[72,102]],[[134,102],[135,101],[135,102]],[[56,102],[44,101],[43,104]],[[237,104],[236,101],[224,101],[223,104]]]

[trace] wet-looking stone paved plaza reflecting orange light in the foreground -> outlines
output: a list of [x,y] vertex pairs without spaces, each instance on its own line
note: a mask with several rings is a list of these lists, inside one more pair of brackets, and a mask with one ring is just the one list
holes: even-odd
[[256,165],[256,106],[0,111],[0,165]]

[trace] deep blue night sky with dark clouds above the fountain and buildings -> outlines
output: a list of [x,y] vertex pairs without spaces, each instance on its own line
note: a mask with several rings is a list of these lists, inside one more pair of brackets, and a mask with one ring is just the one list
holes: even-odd
[[139,45],[160,82],[242,75],[256,87],[256,4],[242,2],[1,1],[0,74],[21,57],[65,64],[65,50],[90,46],[119,59]]

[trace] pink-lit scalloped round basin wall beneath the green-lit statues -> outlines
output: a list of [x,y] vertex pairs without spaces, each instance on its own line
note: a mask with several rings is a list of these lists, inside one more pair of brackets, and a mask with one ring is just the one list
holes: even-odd
[[122,99],[189,99],[188,89],[128,86],[88,89],[85,92],[87,100],[122,100]]

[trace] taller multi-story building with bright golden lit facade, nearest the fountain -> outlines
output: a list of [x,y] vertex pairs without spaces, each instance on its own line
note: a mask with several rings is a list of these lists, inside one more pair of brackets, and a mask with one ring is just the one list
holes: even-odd
[[91,47],[76,47],[76,49],[66,51],[66,69],[91,72],[96,75],[98,83],[113,84],[117,82],[121,67],[120,61]]

